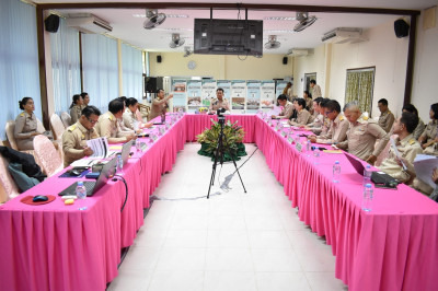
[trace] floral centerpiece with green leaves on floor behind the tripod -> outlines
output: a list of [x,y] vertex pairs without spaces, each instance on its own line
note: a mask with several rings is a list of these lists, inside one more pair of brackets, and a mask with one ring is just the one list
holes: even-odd
[[[211,160],[214,160],[218,147],[220,125],[214,119],[211,121],[211,128],[204,130],[203,133],[196,136],[196,139],[201,146],[198,154],[211,156]],[[240,156],[246,155],[245,146],[242,143],[245,132],[238,126],[238,121],[231,124],[228,120],[223,125],[223,161],[231,161],[230,154],[233,154],[235,161],[239,161]]]

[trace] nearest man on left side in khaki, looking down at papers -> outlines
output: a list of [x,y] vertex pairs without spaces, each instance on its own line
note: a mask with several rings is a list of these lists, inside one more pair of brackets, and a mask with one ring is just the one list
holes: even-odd
[[62,133],[64,166],[92,155],[93,150],[87,147],[87,141],[99,138],[94,125],[99,120],[101,112],[94,106],[87,106],[81,113],[79,120],[67,128]]

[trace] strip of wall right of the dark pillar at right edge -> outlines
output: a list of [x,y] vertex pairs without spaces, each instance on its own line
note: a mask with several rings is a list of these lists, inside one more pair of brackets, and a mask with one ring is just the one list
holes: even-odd
[[[438,9],[435,8],[436,15]],[[438,102],[438,25],[423,30],[423,12],[418,21],[412,103],[419,117],[428,123],[430,105]]]

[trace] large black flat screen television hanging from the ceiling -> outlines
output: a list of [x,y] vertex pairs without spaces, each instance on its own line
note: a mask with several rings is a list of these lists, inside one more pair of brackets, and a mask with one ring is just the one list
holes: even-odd
[[263,55],[263,21],[195,19],[194,51],[206,55]]

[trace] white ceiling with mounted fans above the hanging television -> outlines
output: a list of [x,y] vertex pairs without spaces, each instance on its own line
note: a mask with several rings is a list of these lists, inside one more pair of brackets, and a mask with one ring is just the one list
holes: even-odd
[[[84,0],[34,0],[37,3],[83,3],[90,2]],[[93,2],[145,2],[140,0],[129,1],[112,1],[97,0]],[[160,2],[160,1],[148,1]],[[186,2],[173,0],[172,2]],[[195,1],[193,1],[195,2]],[[209,3],[212,1],[196,1]],[[223,3],[235,3],[235,1],[218,1]],[[243,3],[266,3],[266,0],[241,1]],[[390,9],[412,9],[423,10],[436,5],[436,0],[296,0],[291,3],[288,0],[269,1],[270,4],[304,4],[304,5],[335,5],[335,7],[361,7],[361,8],[390,8]],[[168,18],[165,22],[154,30],[147,31],[142,27],[143,18],[135,18],[134,14],[146,14],[146,9],[74,9],[74,10],[57,10],[61,14],[67,13],[92,13],[96,16],[110,22],[113,26],[111,36],[120,38],[139,48],[148,51],[183,51],[184,47],[172,49],[169,47],[172,33],[180,33],[185,38],[186,45],[193,47],[193,23],[194,19],[208,19],[209,10],[160,10],[165,14],[183,14],[188,15],[186,19]],[[249,19],[264,20],[264,43],[267,42],[268,35],[277,35],[277,40],[281,43],[278,49],[264,49],[264,54],[286,54],[290,48],[313,48],[321,45],[321,37],[324,33],[336,27],[361,27],[369,28],[382,23],[396,20],[397,15],[381,14],[348,14],[348,13],[312,13],[318,21],[307,30],[296,33],[292,32],[297,21],[270,21],[264,20],[266,16],[295,16],[295,12],[284,11],[249,11]],[[244,10],[241,11],[241,19],[244,19]],[[238,19],[238,10],[214,10],[215,19]]]

